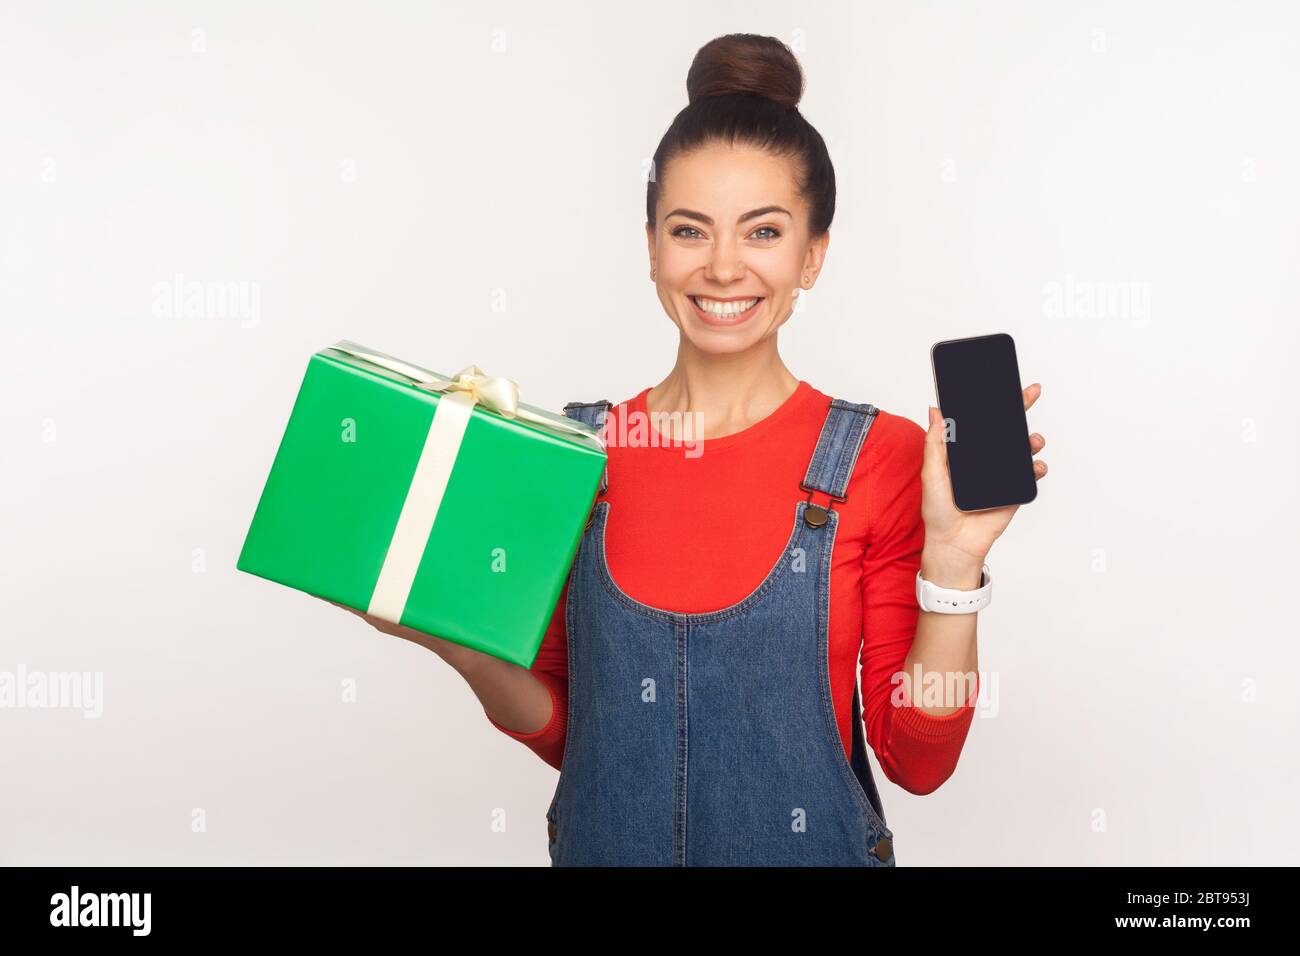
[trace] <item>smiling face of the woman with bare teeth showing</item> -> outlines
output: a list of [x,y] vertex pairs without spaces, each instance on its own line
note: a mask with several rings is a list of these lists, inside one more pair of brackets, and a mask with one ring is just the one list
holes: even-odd
[[774,336],[816,281],[831,237],[810,238],[792,163],[716,143],[668,164],[646,224],[650,265],[664,311],[701,351]]

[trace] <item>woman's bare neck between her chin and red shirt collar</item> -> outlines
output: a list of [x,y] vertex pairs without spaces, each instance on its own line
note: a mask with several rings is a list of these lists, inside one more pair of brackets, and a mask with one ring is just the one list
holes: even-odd
[[701,352],[684,338],[672,371],[646,394],[646,411],[690,412],[706,437],[723,438],[766,419],[798,385],[776,351],[775,336],[724,355]]

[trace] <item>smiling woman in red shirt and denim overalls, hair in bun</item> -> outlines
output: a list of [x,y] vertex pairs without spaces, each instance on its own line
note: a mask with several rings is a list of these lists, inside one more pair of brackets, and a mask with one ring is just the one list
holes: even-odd
[[[1015,507],[957,511],[937,410],[924,429],[781,360],[835,212],[793,53],[720,36],[686,88],[646,194],[676,362],[618,406],[566,407],[610,457],[536,663],[384,627],[443,656],[495,727],[560,769],[556,865],[892,866],[867,747],[930,793],[978,689],[976,615],[922,611],[916,574],[978,588]],[[646,436],[627,427],[646,416],[664,433],[612,440]],[[935,676],[958,693],[922,693]]]

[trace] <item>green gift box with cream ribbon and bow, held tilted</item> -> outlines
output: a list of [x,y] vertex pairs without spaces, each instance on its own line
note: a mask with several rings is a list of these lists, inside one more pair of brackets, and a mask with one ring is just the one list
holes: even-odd
[[601,436],[352,342],[307,364],[235,564],[530,667],[604,472]]

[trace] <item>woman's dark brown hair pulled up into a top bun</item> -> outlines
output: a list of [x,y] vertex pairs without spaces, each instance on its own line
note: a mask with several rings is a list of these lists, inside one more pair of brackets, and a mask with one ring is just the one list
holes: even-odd
[[809,232],[823,235],[835,217],[835,166],[811,124],[798,111],[803,70],[775,36],[727,34],[710,40],[686,73],[686,105],[673,118],[654,153],[646,183],[646,221],[664,172],[675,156],[706,143],[744,143],[796,160],[796,182],[811,207]]

